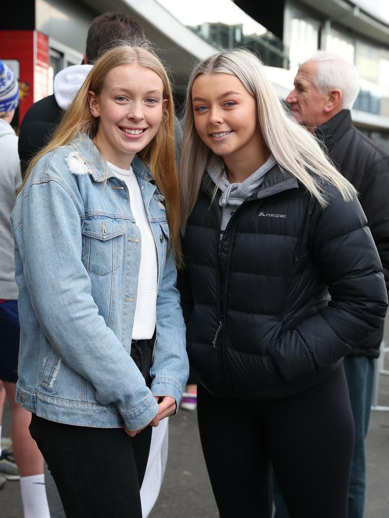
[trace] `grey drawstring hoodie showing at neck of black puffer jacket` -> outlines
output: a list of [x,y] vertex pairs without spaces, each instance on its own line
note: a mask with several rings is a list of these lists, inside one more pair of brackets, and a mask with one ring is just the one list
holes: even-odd
[[[226,168],[224,163],[211,162],[207,166],[207,172],[210,175],[212,181],[220,189],[221,196],[219,199],[219,205],[222,209],[221,212],[221,230],[224,231],[227,223],[229,222],[232,214],[237,208],[258,189],[260,184],[263,182],[263,178],[266,173],[270,171],[276,165],[276,161],[273,155],[270,155],[265,164],[261,165],[259,169],[253,172],[243,182],[230,183],[227,180]],[[223,172],[222,172],[223,171]]]

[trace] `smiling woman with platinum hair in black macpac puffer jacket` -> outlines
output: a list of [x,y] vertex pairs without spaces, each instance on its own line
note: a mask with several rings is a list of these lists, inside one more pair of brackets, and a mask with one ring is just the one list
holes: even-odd
[[346,518],[353,418],[342,357],[387,306],[352,185],[289,116],[258,58],[193,71],[180,278],[202,448],[221,518]]

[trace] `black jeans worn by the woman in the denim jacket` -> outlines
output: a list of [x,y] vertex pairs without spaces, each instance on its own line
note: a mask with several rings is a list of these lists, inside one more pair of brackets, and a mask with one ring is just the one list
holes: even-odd
[[[134,340],[131,357],[150,386],[152,341]],[[142,518],[140,487],[151,427],[131,438],[122,428],[55,423],[32,415],[30,433],[57,485],[67,518]]]

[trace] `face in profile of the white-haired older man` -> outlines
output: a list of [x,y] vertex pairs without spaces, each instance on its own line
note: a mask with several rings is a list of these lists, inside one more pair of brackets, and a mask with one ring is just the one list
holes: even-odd
[[309,128],[320,126],[329,118],[325,111],[328,95],[319,93],[312,81],[316,70],[314,61],[303,63],[295,77],[295,88],[286,97],[294,118]]

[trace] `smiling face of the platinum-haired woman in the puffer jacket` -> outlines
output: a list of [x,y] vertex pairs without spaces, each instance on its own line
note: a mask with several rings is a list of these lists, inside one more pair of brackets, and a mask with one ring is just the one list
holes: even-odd
[[244,161],[258,154],[263,140],[257,103],[236,76],[198,76],[193,82],[192,106],[201,140],[222,156],[227,166],[227,162]]

